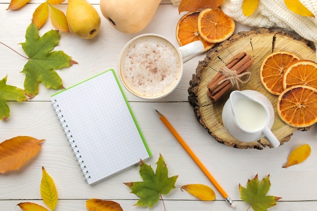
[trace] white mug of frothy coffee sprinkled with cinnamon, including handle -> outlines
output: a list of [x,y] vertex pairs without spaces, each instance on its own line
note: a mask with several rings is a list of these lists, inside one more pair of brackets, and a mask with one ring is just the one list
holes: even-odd
[[160,99],[178,86],[183,63],[205,51],[202,41],[176,47],[159,34],[141,34],[131,39],[118,59],[124,87],[143,99]]

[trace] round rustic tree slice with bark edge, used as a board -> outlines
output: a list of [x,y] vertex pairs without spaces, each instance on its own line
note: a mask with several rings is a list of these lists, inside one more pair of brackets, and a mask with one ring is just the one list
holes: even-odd
[[208,132],[218,142],[242,149],[263,149],[266,146],[272,148],[272,145],[265,138],[254,142],[238,141],[224,128],[221,117],[222,108],[229,98],[229,94],[236,88],[228,90],[216,102],[211,101],[206,94],[208,83],[218,73],[220,67],[225,66],[233,56],[240,52],[246,52],[254,59],[250,70],[252,72],[251,78],[247,83],[240,85],[240,90],[256,90],[271,101],[275,111],[275,120],[271,130],[281,145],[289,141],[294,131],[297,130],[281,120],[276,111],[278,96],[266,91],[260,80],[259,71],[262,61],[268,54],[276,51],[287,51],[294,53],[300,59],[316,61],[315,49],[307,40],[296,39],[284,31],[270,31],[261,28],[232,35],[217,48],[210,50],[206,58],[199,62],[196,74],[190,80],[188,99],[194,106],[197,120],[208,129]]

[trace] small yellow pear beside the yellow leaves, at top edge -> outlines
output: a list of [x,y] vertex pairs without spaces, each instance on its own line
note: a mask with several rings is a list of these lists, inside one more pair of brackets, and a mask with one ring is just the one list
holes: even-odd
[[100,16],[86,0],[68,0],[66,19],[71,31],[84,39],[93,38],[100,28]]

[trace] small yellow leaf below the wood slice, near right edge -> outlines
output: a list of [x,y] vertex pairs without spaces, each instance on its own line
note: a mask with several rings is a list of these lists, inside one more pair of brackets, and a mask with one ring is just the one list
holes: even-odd
[[309,157],[310,151],[311,149],[308,144],[304,144],[302,146],[297,147],[290,153],[287,163],[283,166],[283,168],[287,168],[292,165],[296,165],[298,163],[303,162],[307,159],[307,157]]

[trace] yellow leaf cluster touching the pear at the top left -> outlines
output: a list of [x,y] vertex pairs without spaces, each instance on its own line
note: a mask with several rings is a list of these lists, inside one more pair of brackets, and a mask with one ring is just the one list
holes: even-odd
[[64,1],[65,0],[49,0],[42,3],[35,9],[32,22],[37,26],[38,29],[40,29],[45,24],[50,14],[52,25],[56,29],[58,29],[59,31],[69,32],[65,14],[59,9],[52,6],[60,4]]

